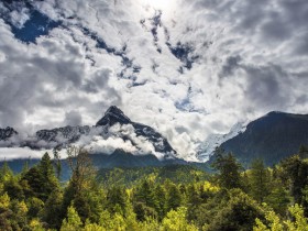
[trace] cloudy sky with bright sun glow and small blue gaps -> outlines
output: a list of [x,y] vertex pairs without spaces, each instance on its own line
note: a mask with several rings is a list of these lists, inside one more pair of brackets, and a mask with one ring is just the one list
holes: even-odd
[[0,128],[112,105],[195,155],[270,111],[308,113],[307,0],[0,1]]

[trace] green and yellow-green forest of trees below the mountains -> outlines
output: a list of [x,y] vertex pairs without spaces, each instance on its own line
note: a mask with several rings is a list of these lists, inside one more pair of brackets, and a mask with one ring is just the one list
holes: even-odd
[[308,148],[249,169],[217,150],[212,172],[196,166],[96,169],[87,150],[56,151],[13,174],[0,168],[0,230],[306,231]]

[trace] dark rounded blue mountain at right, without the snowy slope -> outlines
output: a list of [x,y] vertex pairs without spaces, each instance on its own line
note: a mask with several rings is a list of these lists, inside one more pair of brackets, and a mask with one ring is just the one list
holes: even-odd
[[244,132],[220,147],[249,166],[254,158],[263,158],[266,165],[276,164],[298,153],[302,144],[308,144],[308,114],[273,111],[249,123]]

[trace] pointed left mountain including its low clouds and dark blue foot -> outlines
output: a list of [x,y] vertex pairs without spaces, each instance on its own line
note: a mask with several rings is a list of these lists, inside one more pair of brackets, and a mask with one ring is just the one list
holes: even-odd
[[[176,157],[176,151],[162,134],[148,125],[131,121],[116,106],[111,106],[92,127],[67,125],[40,130],[25,139],[15,139],[13,144],[9,140],[18,138],[15,130],[1,129],[0,135],[3,147],[30,147],[42,152],[54,147],[65,148],[70,144],[94,147],[91,158],[98,168],[186,164]],[[125,145],[130,148],[125,150]],[[37,161],[32,160],[33,163]],[[9,164],[13,169],[21,169],[22,163],[19,160]]]

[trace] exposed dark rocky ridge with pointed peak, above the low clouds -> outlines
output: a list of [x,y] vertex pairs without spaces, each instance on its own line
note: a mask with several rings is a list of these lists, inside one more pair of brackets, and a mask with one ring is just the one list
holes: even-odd
[[[121,129],[114,131],[114,127],[129,128],[128,131]],[[99,139],[107,140],[110,136],[121,139],[123,142],[131,142],[135,150],[141,150],[142,146],[138,139],[146,141],[150,145],[153,145],[154,152],[163,155],[164,158],[174,158],[176,151],[172,147],[168,141],[148,125],[136,123],[131,121],[119,108],[111,106],[105,113],[105,116],[96,123],[96,125],[89,127],[64,127],[55,128],[52,130],[40,130],[34,135],[29,135],[25,139],[19,138],[19,142],[14,143],[14,146],[28,146],[31,148],[54,148],[65,147],[69,144],[87,145],[84,141],[90,142],[99,136]],[[9,143],[14,136],[19,136],[18,132],[12,128],[0,129],[0,141]],[[84,142],[84,143],[82,143]],[[6,146],[6,143],[2,146]],[[9,146],[9,145],[8,145]],[[11,145],[10,145],[11,146]],[[117,148],[116,148],[117,150]],[[146,152],[146,151],[144,151]],[[143,153],[144,153],[143,152]],[[153,154],[153,153],[145,153]]]

